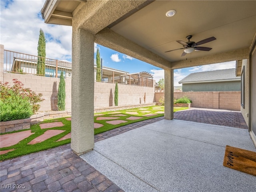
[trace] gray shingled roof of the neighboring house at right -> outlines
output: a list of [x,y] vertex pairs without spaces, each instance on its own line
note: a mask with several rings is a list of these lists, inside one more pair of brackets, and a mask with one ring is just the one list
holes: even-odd
[[196,72],[191,73],[179,83],[186,83],[186,82],[198,82],[198,81],[214,81],[214,80],[234,80],[240,79],[241,77],[236,77],[236,68],[233,69],[222,69],[222,70],[215,70],[215,71],[204,71],[204,72]]

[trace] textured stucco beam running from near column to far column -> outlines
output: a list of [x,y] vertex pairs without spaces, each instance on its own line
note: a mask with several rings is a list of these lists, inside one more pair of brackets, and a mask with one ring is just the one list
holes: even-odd
[[104,28],[95,35],[94,41],[102,46],[116,50],[138,60],[152,64],[160,68],[171,68],[171,62],[154,54],[146,48],[139,46],[120,34]]

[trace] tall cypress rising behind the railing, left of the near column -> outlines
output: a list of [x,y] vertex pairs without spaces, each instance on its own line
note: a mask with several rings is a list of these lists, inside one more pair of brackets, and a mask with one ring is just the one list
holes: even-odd
[[44,31],[40,29],[39,38],[38,38],[38,46],[37,46],[37,70],[36,74],[45,75],[45,51],[46,40],[44,36]]

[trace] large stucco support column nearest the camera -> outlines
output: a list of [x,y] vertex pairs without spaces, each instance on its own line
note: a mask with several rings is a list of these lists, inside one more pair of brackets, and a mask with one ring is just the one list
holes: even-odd
[[71,148],[80,155],[94,148],[94,35],[72,31]]

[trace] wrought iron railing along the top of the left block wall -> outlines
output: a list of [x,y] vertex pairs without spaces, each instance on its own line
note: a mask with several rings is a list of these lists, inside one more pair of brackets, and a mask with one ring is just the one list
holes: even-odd
[[[44,63],[45,72],[44,74],[38,74],[42,63]],[[65,78],[71,78],[72,63],[4,50],[4,72],[48,77],[60,77],[60,73],[63,72]],[[118,70],[94,68],[94,80],[98,82],[153,87],[153,80],[150,78],[136,78]]]

